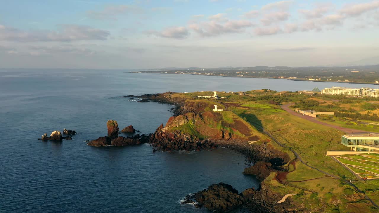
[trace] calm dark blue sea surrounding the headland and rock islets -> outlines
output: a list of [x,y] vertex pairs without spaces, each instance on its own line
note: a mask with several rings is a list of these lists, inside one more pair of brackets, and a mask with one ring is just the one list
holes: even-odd
[[[227,149],[152,152],[148,144],[90,147],[106,121],[152,133],[172,106],[119,96],[165,91],[312,90],[371,87],[276,79],[132,74],[127,70],[0,70],[0,212],[207,212],[179,200],[212,183],[257,187],[241,174],[244,157]],[[38,141],[43,133],[77,131],[72,141]]]

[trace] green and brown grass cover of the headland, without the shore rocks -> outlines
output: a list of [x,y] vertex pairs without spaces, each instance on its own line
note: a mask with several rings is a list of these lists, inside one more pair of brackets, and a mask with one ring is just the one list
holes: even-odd
[[[352,108],[359,113],[367,114],[363,112],[372,110],[371,105],[354,99],[334,104],[336,102],[328,100],[328,97],[323,99],[322,96],[312,97],[297,92],[276,92],[268,89],[247,91],[244,96],[218,93],[219,97],[226,99],[197,97],[209,96],[211,93],[171,92],[153,97],[152,99],[158,100],[165,97],[166,102],[172,103],[181,100],[183,103],[179,105],[183,110],[182,115],[170,118],[166,127],[162,128],[176,135],[192,135],[205,140],[229,140],[231,142],[224,143],[228,146],[230,143],[254,149],[261,149],[258,146],[263,146],[265,149],[270,147],[270,150],[286,153],[289,159],[281,165],[282,169],[268,168],[269,173],[264,175],[261,186],[280,196],[295,193],[295,196],[287,198],[290,200],[290,207],[287,208],[292,208],[295,212],[377,211],[365,196],[378,203],[378,196],[375,195],[379,193],[379,182],[357,179],[348,169],[326,156],[327,150],[349,150],[340,143],[341,135],[345,133],[294,116],[280,107],[280,104],[296,103],[295,106],[300,108]],[[213,112],[211,107],[216,104],[224,111]],[[240,139],[242,142],[233,142],[232,139]],[[219,145],[223,146],[221,142]],[[251,167],[252,171],[266,172],[266,164],[259,164],[263,167],[256,165],[255,168]]]

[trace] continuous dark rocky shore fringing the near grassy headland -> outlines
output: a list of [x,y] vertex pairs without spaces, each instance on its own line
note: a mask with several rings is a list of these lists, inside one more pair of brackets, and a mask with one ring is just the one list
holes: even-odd
[[[170,94],[172,93],[166,92],[138,96],[150,101],[176,106],[174,117],[169,119],[166,126],[161,124],[150,135],[149,142],[155,149],[161,151],[200,151],[226,147],[245,155],[247,161],[254,165],[244,169],[242,173],[254,175],[262,182],[260,188],[249,188],[241,193],[238,193],[237,190],[226,183],[213,184],[205,190],[187,196],[182,204],[194,204],[197,208],[204,207],[215,212],[228,212],[241,207],[257,213],[292,212],[288,210],[290,209],[289,206],[292,205],[291,199],[278,204],[277,201],[281,198],[280,194],[269,190],[263,182],[271,172],[286,170],[282,166],[290,161],[287,153],[274,149],[268,144],[269,140],[262,141],[259,144],[249,144],[246,139],[236,138],[235,135],[230,132],[227,133],[225,130],[221,130],[220,134],[213,135],[208,139],[200,139],[196,135],[181,131],[178,127],[191,123],[192,117],[195,117],[195,123],[206,119],[204,119],[204,114],[199,113],[200,110],[196,109],[196,107],[201,106],[188,106],[185,104],[186,99],[173,99],[170,98]],[[201,119],[196,119],[198,117]]]

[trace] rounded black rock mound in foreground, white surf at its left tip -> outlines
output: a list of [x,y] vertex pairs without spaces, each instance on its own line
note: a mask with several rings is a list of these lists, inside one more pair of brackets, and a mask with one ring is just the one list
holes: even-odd
[[198,202],[197,207],[205,207],[216,212],[226,212],[242,205],[242,197],[231,185],[226,183],[212,184],[207,189],[186,197],[182,203]]

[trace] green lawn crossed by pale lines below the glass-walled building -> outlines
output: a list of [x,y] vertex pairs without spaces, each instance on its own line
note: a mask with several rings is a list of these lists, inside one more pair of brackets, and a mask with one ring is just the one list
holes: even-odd
[[334,158],[360,179],[379,179],[379,153],[338,155]]

